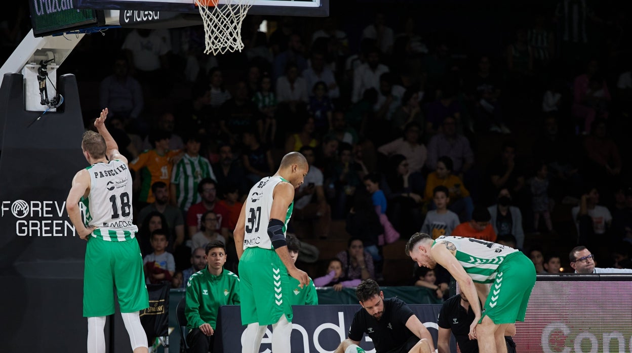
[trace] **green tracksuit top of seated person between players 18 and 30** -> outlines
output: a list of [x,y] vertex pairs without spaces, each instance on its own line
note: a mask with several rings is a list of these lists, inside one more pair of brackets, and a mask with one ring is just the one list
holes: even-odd
[[239,304],[239,277],[226,269],[219,276],[211,275],[207,266],[193,273],[186,284],[186,330],[203,323],[215,330],[219,307]]

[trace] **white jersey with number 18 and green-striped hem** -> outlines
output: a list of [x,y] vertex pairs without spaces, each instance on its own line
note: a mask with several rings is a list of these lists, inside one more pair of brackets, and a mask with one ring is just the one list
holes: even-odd
[[133,224],[131,208],[131,174],[121,160],[90,165],[90,194],[82,198],[84,220],[97,227],[93,237],[105,241],[127,241],[135,237],[138,227]]

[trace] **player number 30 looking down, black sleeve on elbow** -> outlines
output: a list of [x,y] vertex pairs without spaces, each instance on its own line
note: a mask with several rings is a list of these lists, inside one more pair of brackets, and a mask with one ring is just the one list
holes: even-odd
[[292,332],[292,287],[288,273],[300,287],[307,273],[289,256],[286,227],[294,207],[294,191],[309,165],[298,152],[286,154],[279,170],[250,189],[234,229],[240,259],[241,323],[246,327],[242,353],[258,353],[267,325],[272,325],[272,352],[289,353]]

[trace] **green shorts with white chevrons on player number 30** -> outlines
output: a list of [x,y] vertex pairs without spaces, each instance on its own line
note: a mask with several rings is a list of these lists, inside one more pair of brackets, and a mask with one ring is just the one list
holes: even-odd
[[292,322],[288,270],[273,249],[247,248],[239,261],[241,324]]

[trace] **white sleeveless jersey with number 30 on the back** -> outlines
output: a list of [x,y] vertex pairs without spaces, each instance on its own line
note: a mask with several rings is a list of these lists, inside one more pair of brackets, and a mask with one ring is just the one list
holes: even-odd
[[[246,199],[246,226],[243,239],[243,249],[262,248],[272,249],[272,242],[268,236],[270,210],[272,210],[272,195],[279,182],[289,182],[280,176],[264,177],[250,189]],[[294,202],[288,207],[283,225],[283,234],[288,228],[289,217],[292,215]]]

